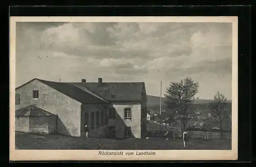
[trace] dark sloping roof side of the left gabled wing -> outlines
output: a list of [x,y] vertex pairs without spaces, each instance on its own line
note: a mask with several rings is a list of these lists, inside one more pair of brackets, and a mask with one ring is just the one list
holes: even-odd
[[38,79],[42,83],[48,85],[49,87],[79,101],[81,103],[105,103],[105,101],[89,94],[88,92],[77,88],[76,86],[63,82],[52,82],[47,80]]

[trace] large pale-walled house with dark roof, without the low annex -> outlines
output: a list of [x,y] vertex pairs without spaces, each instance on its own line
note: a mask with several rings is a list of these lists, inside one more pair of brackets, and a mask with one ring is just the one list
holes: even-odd
[[53,82],[35,78],[15,89],[15,110],[29,105],[54,113],[57,121],[53,129],[65,135],[83,136],[85,125],[91,137],[143,138],[146,134],[144,82],[102,82],[102,78],[98,82]]

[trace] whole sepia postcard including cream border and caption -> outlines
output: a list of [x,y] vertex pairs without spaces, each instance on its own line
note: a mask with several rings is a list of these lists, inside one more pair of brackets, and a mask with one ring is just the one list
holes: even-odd
[[237,17],[71,18],[11,18],[15,159],[237,158]]

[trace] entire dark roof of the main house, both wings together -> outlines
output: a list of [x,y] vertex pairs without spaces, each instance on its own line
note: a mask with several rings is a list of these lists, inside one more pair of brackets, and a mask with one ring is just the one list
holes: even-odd
[[35,79],[81,103],[140,102],[145,89],[144,82],[103,82],[99,86],[98,82],[53,82],[34,78],[15,90]]

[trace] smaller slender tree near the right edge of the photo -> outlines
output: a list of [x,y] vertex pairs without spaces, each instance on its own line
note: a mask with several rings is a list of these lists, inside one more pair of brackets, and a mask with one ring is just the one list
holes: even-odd
[[218,118],[218,120],[216,120],[220,123],[221,138],[223,138],[223,120],[229,116],[227,109],[227,98],[218,91],[218,93],[214,96],[214,102],[209,103],[209,109],[213,117]]

